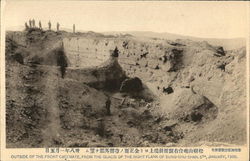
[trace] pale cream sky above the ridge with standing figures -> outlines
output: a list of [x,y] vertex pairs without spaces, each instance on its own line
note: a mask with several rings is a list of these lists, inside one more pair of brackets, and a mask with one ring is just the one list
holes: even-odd
[[6,29],[30,18],[55,28],[82,31],[153,31],[204,37],[235,38],[247,34],[248,2],[228,1],[24,1],[7,0]]

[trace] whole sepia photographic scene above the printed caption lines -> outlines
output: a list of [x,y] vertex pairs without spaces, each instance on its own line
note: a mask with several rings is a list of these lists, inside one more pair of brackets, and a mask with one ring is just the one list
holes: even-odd
[[248,5],[7,0],[6,148],[246,146]]

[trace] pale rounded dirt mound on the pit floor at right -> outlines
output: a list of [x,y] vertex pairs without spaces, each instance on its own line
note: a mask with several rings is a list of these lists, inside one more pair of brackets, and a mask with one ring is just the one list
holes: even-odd
[[167,118],[172,120],[200,123],[213,120],[218,114],[218,108],[211,101],[187,88],[162,97],[161,105]]

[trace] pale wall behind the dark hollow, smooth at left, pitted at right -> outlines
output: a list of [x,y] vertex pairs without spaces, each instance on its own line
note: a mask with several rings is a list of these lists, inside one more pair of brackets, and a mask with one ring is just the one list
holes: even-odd
[[139,77],[156,95],[161,95],[163,88],[176,77],[176,72],[169,71],[180,67],[181,61],[176,61],[176,55],[182,53],[173,50],[184,50],[183,46],[173,46],[166,40],[133,38],[71,37],[63,39],[63,46],[70,68],[100,66],[117,47],[118,63],[125,74]]

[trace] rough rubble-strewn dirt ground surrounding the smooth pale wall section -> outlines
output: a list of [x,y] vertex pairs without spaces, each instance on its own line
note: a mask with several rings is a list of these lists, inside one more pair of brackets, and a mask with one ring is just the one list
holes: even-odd
[[68,37],[107,43],[95,33],[7,33],[8,148],[246,144],[244,47],[166,41],[166,55],[157,55],[153,40],[126,37],[119,56],[76,68],[62,47]]

